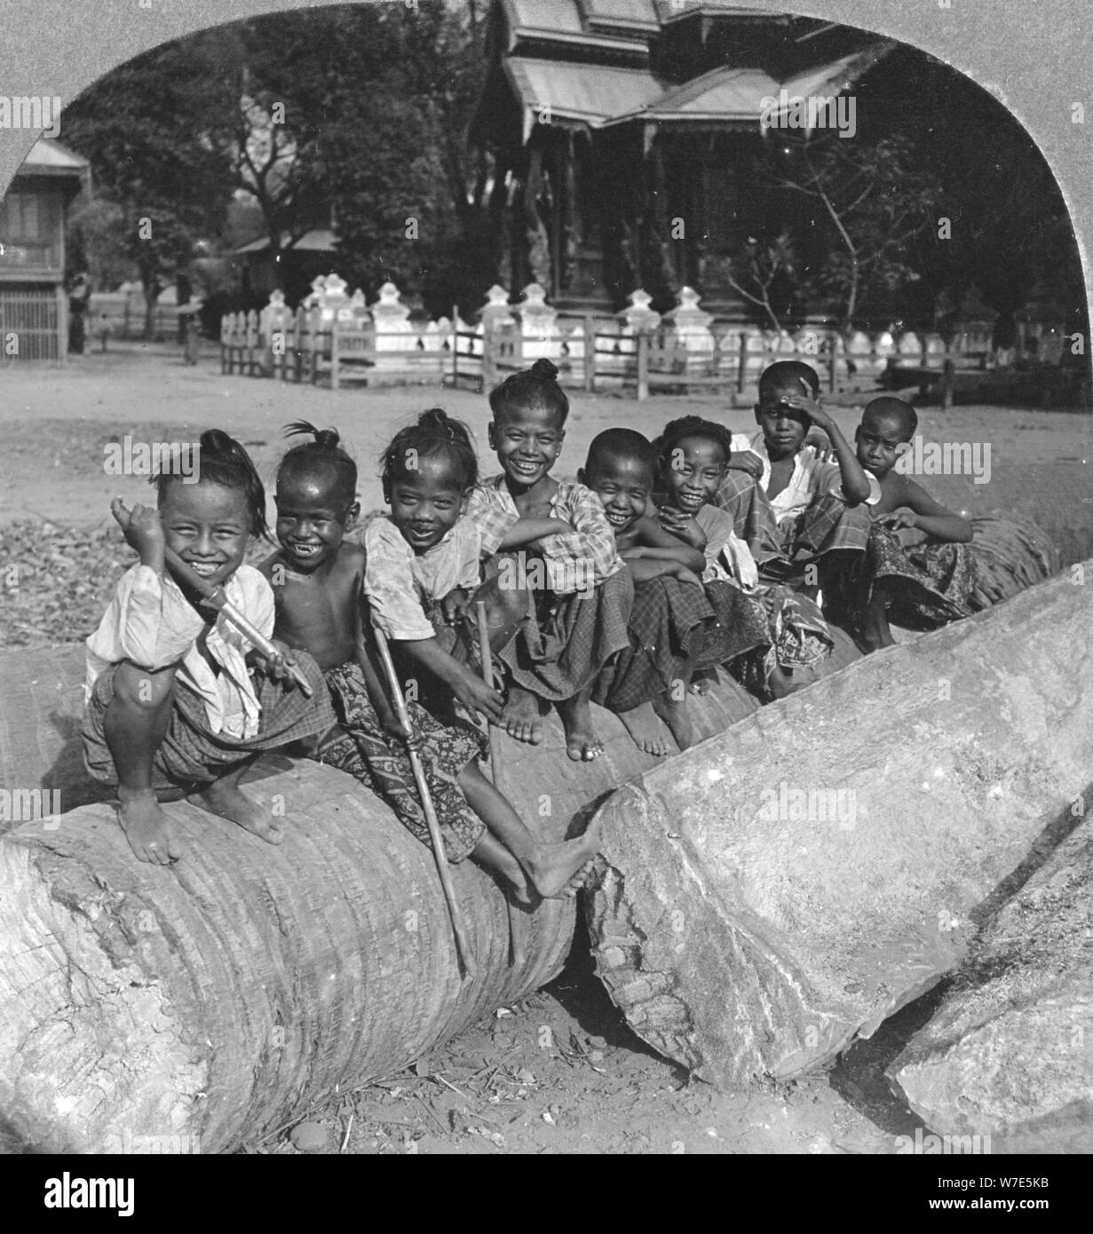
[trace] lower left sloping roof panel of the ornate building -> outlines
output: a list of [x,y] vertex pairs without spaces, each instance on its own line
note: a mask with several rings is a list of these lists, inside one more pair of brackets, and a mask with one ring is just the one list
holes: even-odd
[[533,121],[539,109],[549,106],[551,121],[577,120],[596,128],[664,93],[664,85],[648,69],[639,68],[511,56],[505,70]]

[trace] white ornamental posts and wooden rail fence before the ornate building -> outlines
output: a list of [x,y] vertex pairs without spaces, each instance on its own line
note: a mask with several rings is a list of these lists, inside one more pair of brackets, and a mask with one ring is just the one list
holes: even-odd
[[[968,323],[949,346],[936,334],[864,332],[844,336],[823,326],[794,333],[762,331],[718,321],[698,308],[690,289],[661,317],[645,292],[616,316],[571,313],[545,304],[542,288],[526,289],[508,304],[492,288],[475,325],[452,317],[411,320],[394,284],[365,306],[352,299],[337,275],[316,279],[313,292],[295,312],[274,292],[262,312],[228,313],[221,321],[225,373],[329,383],[452,384],[491,387],[540,357],[551,359],[561,380],[587,392],[633,389],[638,399],[656,391],[750,391],[759,374],[778,359],[801,359],[820,374],[828,390],[861,384],[926,386],[946,371],[986,368],[991,358],[987,323]],[[951,380],[946,381],[951,387]]]

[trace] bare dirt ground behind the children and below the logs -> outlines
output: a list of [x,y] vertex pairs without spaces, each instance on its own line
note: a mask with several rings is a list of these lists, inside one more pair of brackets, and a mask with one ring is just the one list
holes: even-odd
[[[867,397],[838,400],[836,418],[848,433]],[[591,438],[612,424],[651,437],[687,412],[717,416],[734,431],[753,423],[746,410],[725,411],[720,397],[659,396],[638,404],[627,395],[574,392],[572,402],[559,474],[572,474]],[[39,581],[52,587],[58,611],[48,619],[25,612],[21,633],[4,642],[78,638],[97,619],[125,548],[117,545],[105,573],[101,561],[95,566],[100,576],[94,580],[79,576],[90,560],[79,554],[88,537],[102,539],[112,524],[111,496],[131,502],[149,494],[141,478],[104,473],[104,447],[111,441],[126,433],[138,441],[196,441],[215,426],[239,437],[269,476],[283,449],[281,426],[301,418],[333,424],[360,464],[361,505],[369,510],[381,505],[380,449],[396,428],[438,404],[485,443],[487,406],[477,394],[426,386],[334,394],[222,376],[211,344],[196,368],[184,366],[171,349],[141,347],[64,366],[0,368],[0,566],[30,553],[32,543],[36,552],[48,543]],[[996,459],[1047,466],[1093,459],[1088,416],[971,405],[945,413],[925,406],[919,415],[926,438],[989,441]],[[882,1070],[939,996],[935,990],[893,1017],[830,1072],[724,1095],[690,1081],[630,1033],[579,938],[566,971],[545,990],[500,1009],[413,1069],[326,1099],[311,1116],[322,1128],[317,1151],[892,1154],[896,1137],[913,1134],[919,1124],[891,1097]],[[289,1132],[247,1148],[295,1154]]]

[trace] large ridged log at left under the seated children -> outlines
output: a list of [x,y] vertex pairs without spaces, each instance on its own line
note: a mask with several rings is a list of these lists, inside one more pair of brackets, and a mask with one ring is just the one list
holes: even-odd
[[[81,680],[81,647],[0,659],[5,784],[58,790],[62,810],[101,795],[79,763]],[[756,706],[732,682],[693,702],[699,737]],[[498,787],[546,839],[654,761],[609,713],[596,721],[607,750],[580,766],[553,718],[534,753],[498,734]],[[27,1144],[190,1135],[220,1151],[561,969],[571,901],[528,916],[527,964],[509,967],[501,891],[455,868],[477,967],[460,982],[432,854],[386,806],[280,755],[245,789],[284,812],[280,848],[181,802],[164,807],[186,843],[171,868],[136,861],[105,803],[31,811],[0,839],[0,1113]]]

